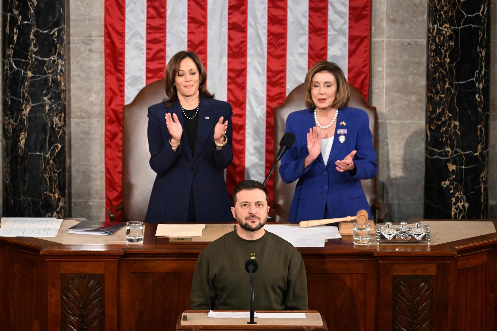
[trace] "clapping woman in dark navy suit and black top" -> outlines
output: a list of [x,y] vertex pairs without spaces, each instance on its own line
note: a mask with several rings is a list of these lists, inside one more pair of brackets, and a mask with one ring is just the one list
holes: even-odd
[[191,51],[166,66],[168,99],[149,107],[150,166],[157,173],[145,221],[230,222],[224,169],[231,164],[233,112],[205,88],[207,74]]

